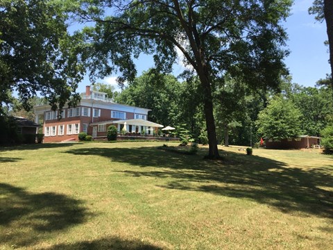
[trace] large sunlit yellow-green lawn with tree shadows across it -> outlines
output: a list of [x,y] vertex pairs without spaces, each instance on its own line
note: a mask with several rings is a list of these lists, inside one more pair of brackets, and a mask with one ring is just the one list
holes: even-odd
[[0,148],[0,249],[332,249],[332,156],[160,145]]

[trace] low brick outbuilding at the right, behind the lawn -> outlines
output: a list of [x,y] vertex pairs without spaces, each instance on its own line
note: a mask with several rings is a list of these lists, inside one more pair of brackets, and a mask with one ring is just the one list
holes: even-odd
[[317,136],[300,135],[297,138],[282,140],[265,139],[266,149],[309,149],[319,147],[321,138]]

